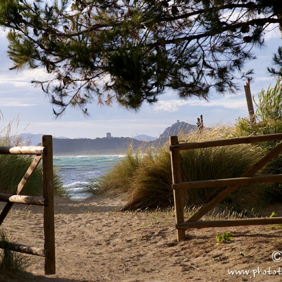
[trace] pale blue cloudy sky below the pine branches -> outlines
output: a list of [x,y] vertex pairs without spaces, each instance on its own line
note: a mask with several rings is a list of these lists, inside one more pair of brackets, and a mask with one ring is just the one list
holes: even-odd
[[[254,69],[250,88],[257,95],[262,88],[267,90],[275,80],[267,72],[273,54],[282,45],[279,29],[269,32],[266,47],[255,51],[257,59],[249,62],[246,69]],[[45,134],[53,137],[90,138],[134,137],[148,135],[159,137],[163,131],[177,120],[196,124],[197,117],[203,115],[204,126],[212,127],[219,123],[232,125],[238,117],[248,116],[244,81],[239,82],[236,94],[216,94],[211,92],[209,101],[197,97],[181,100],[176,93],[167,92],[159,96],[154,104],[143,103],[138,112],[128,111],[118,105],[99,106],[95,102],[88,105],[90,116],[85,118],[76,109],[69,108],[64,115],[55,119],[52,105],[41,88],[35,88],[33,79],[44,79],[43,70],[9,70],[12,61],[7,57],[8,41],[0,30],[0,126],[4,132],[12,123],[12,134]],[[2,133],[3,134],[3,133]]]

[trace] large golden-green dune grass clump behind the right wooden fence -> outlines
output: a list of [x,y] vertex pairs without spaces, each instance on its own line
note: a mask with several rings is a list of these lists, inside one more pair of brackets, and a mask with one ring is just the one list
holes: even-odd
[[[180,140],[204,141],[236,136],[234,128],[215,127],[197,131],[188,136],[180,136]],[[241,176],[261,156],[259,146],[241,144],[224,147],[213,147],[181,151],[181,167],[183,181],[196,181]],[[173,190],[170,152],[168,144],[160,149],[146,149],[144,152],[132,154],[121,159],[99,180],[88,185],[88,191],[94,194],[124,194],[125,209],[164,207],[173,205]],[[185,205],[202,204],[211,200],[221,189],[198,188],[185,189]],[[264,202],[264,189],[242,187],[232,193],[227,202],[233,204],[259,205]]]

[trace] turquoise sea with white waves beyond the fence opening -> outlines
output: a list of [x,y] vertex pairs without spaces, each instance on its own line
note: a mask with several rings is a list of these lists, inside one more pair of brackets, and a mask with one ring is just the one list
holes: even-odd
[[58,174],[70,198],[83,200],[91,196],[83,191],[83,185],[105,174],[123,157],[124,155],[53,156],[53,164],[58,167]]

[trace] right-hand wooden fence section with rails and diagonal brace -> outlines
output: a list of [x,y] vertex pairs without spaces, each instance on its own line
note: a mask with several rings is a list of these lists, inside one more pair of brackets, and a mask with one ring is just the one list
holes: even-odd
[[[214,220],[214,221],[198,221],[208,211],[219,204],[224,198],[232,193],[240,185],[255,184],[255,183],[273,183],[281,182],[282,175],[269,176],[253,176],[257,171],[264,167],[269,161],[277,156],[282,151],[282,142],[277,145],[271,152],[260,159],[255,165],[248,169],[239,178],[216,179],[205,181],[182,182],[180,173],[180,150],[189,150],[197,148],[207,148],[215,146],[226,146],[243,143],[255,143],[266,141],[282,140],[282,134],[269,134],[262,136],[240,137],[232,139],[179,143],[177,136],[170,137],[170,153],[171,153],[171,168],[172,168],[172,188],[174,194],[175,214],[176,214],[176,229],[177,240],[180,242],[185,238],[185,231],[192,228],[207,228],[207,227],[228,227],[241,225],[264,225],[264,224],[282,224],[282,217],[269,218],[248,218],[235,220]],[[190,188],[204,188],[214,186],[227,186],[209,203],[202,206],[193,216],[187,221],[184,219],[183,205],[183,190]]]

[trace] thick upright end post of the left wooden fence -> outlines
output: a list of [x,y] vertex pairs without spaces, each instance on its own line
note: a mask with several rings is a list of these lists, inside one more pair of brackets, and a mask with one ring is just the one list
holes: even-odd
[[55,228],[54,228],[54,192],[53,192],[53,149],[52,136],[42,136],[42,145],[47,154],[42,154],[43,197],[48,205],[43,207],[44,248],[46,250],[45,274],[55,274]]

